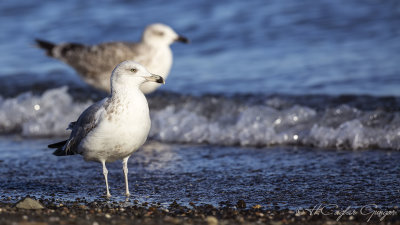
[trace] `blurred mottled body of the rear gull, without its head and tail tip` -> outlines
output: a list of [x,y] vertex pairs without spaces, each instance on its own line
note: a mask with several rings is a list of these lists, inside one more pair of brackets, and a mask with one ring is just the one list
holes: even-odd
[[[67,50],[66,50],[67,49]],[[159,51],[166,53],[159,54]],[[157,49],[145,43],[109,42],[93,46],[63,44],[53,50],[54,57],[72,66],[81,77],[96,88],[110,91],[110,74],[114,67],[125,60],[134,60],[152,73],[167,77],[172,65],[169,47]],[[154,86],[157,84],[146,84]],[[145,91],[147,93],[147,91]]]

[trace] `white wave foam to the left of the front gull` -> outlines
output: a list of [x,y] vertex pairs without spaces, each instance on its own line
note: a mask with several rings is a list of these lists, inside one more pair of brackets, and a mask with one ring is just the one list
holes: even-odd
[[28,137],[67,135],[68,123],[75,121],[90,103],[74,102],[66,87],[41,96],[28,92],[15,98],[1,98],[0,132],[18,132]]

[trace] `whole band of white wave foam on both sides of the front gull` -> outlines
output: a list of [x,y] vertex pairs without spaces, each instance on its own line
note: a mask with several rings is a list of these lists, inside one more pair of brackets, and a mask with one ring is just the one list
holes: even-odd
[[[277,98],[260,104],[224,97],[169,102],[150,98],[150,102],[158,106],[150,108],[150,136],[159,141],[400,149],[400,113],[396,111],[360,110],[348,105],[317,110]],[[91,103],[74,101],[65,87],[40,96],[25,93],[0,98],[0,132],[28,137],[67,136],[68,123]]]

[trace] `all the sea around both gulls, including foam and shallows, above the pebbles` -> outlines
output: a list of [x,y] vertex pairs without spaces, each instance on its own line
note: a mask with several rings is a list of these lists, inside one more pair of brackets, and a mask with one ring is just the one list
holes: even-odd
[[138,41],[156,22],[191,43],[148,96],[156,144],[130,159],[135,198],[399,205],[399,0],[0,1],[4,198],[104,190],[98,164],[47,144],[105,93],[34,39]]

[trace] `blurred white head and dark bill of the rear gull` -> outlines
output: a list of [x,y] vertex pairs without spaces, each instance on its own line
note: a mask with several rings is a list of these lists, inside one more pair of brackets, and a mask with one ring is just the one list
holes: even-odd
[[168,46],[175,41],[189,43],[187,38],[178,35],[171,27],[161,23],[147,26],[143,32],[142,41],[153,46]]

